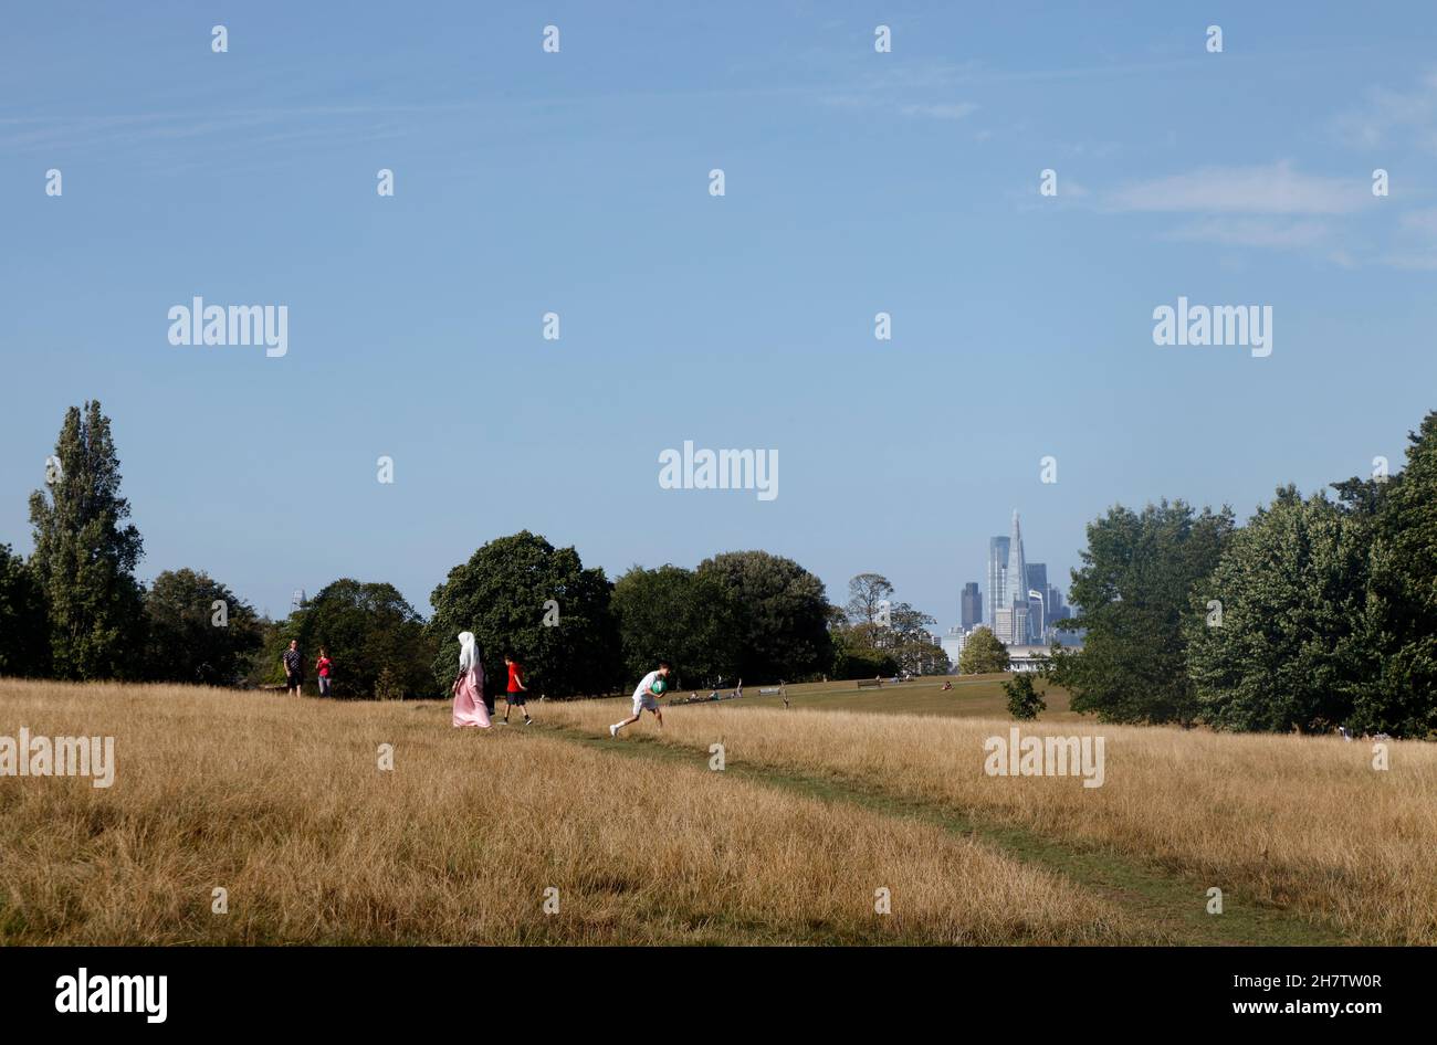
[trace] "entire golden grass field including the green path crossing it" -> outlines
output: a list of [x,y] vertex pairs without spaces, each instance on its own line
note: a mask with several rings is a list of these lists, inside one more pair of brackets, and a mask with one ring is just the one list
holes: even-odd
[[1085,789],[986,777],[996,682],[940,685],[746,690],[660,742],[608,736],[621,700],[479,734],[435,702],[0,680],[0,735],[116,748],[109,788],[0,777],[0,943],[1437,942],[1430,745],[1377,772],[1065,722],[1108,738]]

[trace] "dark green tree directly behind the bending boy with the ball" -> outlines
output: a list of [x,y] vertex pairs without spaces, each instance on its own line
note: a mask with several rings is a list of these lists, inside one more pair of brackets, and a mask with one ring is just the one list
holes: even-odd
[[612,607],[625,676],[641,678],[661,657],[674,667],[675,688],[736,676],[739,607],[713,574],[635,566],[614,581]]

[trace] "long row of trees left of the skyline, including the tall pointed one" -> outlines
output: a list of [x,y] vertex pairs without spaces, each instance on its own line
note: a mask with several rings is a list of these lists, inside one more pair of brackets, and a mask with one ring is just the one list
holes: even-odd
[[634,566],[611,581],[529,531],[450,570],[428,619],[392,584],[345,577],[267,620],[203,570],[137,580],[144,541],[119,485],[101,405],[70,408],[30,497],[34,551],[0,545],[0,675],[277,686],[296,640],[310,662],[328,650],[336,698],[438,696],[464,630],[486,663],[512,653],[550,696],[616,692],[658,657],[681,688],[947,669],[924,632],[933,620],[890,607],[878,574],[854,580],[869,611],[855,601],[845,611],[815,574],[766,551],[726,551],[693,570]]

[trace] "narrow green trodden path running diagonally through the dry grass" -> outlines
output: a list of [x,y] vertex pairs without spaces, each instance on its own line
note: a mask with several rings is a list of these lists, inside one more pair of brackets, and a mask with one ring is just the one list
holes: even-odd
[[[596,736],[570,726],[537,726],[545,736],[558,736],[612,754],[615,758],[647,758],[683,765],[706,765],[708,755],[697,748],[664,744],[657,738],[632,735],[622,741]],[[717,775],[717,774],[716,774]],[[1313,923],[1277,907],[1259,906],[1227,891],[1223,913],[1206,910],[1206,887],[1190,878],[1147,867],[1141,863],[1096,848],[1056,841],[1023,827],[1003,824],[989,817],[964,814],[937,802],[915,801],[854,781],[821,774],[802,774],[727,759],[724,777],[734,777],[782,788],[829,802],[846,802],[890,817],[905,817],[935,824],[947,831],[973,835],[1006,856],[1053,871],[1105,899],[1114,900],[1134,917],[1171,936],[1175,945],[1201,946],[1321,946],[1364,943],[1336,929]]]

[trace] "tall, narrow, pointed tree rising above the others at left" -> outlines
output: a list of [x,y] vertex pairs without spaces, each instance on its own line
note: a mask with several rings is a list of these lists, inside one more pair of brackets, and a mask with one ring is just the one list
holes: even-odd
[[99,402],[72,406],[55,445],[59,469],[30,494],[30,564],[49,611],[49,659],[62,679],[144,672],[139,531],[126,524],[119,458]]

